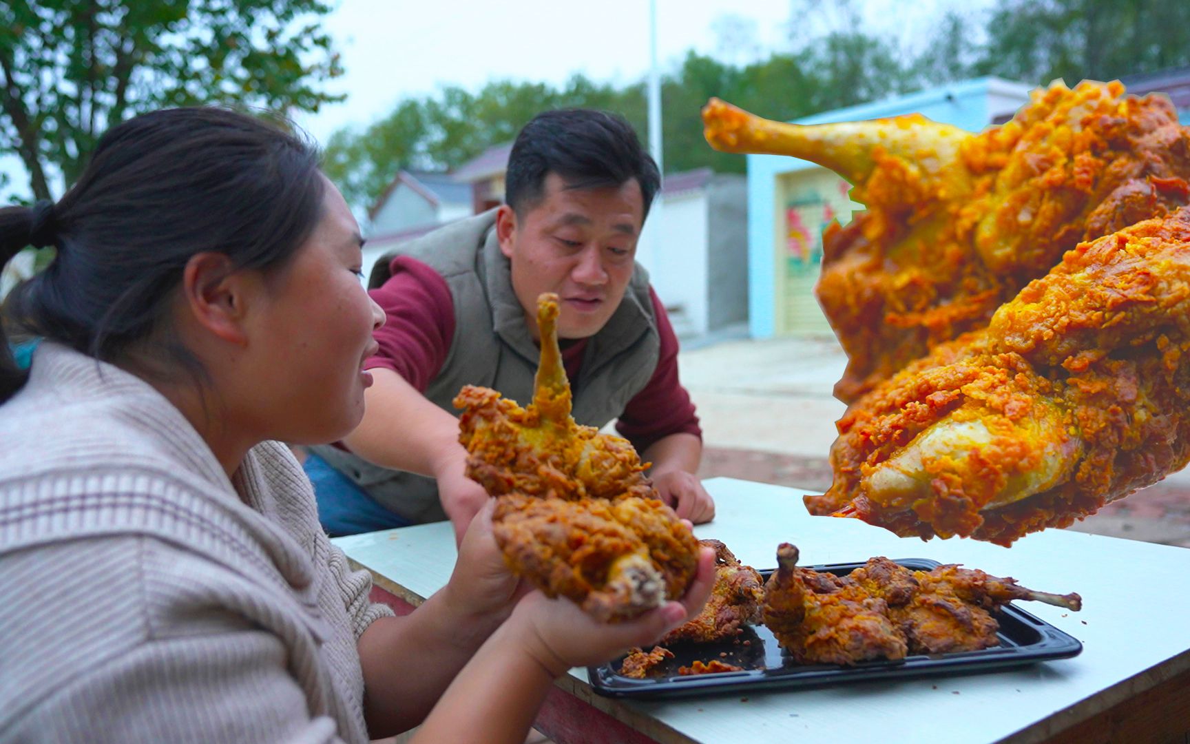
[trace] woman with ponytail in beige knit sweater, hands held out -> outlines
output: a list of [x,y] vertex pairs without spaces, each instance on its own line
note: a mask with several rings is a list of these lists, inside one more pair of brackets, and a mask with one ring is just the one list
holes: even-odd
[[[476,517],[449,584],[394,618],[318,523],[289,449],[349,433],[383,321],[305,142],[178,108],[119,124],[56,204],[0,210],[0,262],[54,246],[0,337],[0,740],[519,742],[553,676],[651,643],[518,589]],[[491,684],[490,680],[501,680]],[[515,681],[515,682],[514,682]]]

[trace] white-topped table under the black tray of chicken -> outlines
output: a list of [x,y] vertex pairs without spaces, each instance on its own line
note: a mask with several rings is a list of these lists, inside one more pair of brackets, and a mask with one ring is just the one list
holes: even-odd
[[[771,568],[777,544],[790,542],[804,564],[879,555],[933,558],[1013,576],[1042,592],[1078,592],[1078,613],[1020,605],[1084,649],[1075,658],[1007,671],[749,693],[746,700],[628,702],[594,694],[581,669],[559,681],[639,732],[633,736],[716,744],[1183,742],[1190,736],[1190,550],[1065,530],[1031,534],[1012,549],[962,539],[926,543],[858,520],[810,517],[801,500],[809,492],[734,479],[713,479],[706,487],[716,517],[695,532],[722,540],[744,563]],[[372,573],[377,587],[412,605],[446,583],[456,555],[449,523],[334,542]],[[551,702],[562,700],[551,695]],[[572,720],[583,718],[584,708],[571,705],[552,720],[546,712],[543,730],[559,743],[596,740],[597,721]],[[603,738],[624,740],[626,731]]]

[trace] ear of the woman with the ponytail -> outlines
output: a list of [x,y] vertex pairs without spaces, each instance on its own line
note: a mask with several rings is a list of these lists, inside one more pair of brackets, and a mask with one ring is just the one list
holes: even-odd
[[239,346],[248,343],[249,276],[237,271],[230,257],[212,251],[190,256],[182,270],[181,290],[200,327]]

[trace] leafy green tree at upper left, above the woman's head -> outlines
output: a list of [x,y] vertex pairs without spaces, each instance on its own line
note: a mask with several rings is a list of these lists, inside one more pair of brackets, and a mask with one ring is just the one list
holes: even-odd
[[318,111],[342,73],[322,0],[0,4],[0,149],[35,198],[73,182],[102,132],[165,106]]

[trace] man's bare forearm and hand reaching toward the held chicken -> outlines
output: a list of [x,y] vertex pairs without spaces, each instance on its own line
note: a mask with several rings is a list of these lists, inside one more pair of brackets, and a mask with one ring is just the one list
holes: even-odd
[[455,526],[456,542],[488,500],[464,475],[466,450],[458,443],[458,419],[430,402],[401,375],[372,368],[364,392],[364,418],[343,444],[364,459],[438,480],[438,498]]

